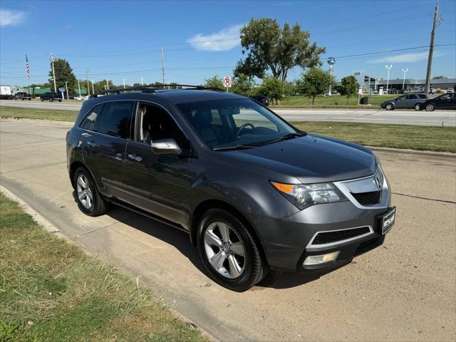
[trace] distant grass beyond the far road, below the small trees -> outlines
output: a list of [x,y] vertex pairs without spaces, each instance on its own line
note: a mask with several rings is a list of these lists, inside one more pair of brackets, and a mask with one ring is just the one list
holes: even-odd
[[397,98],[399,95],[370,95],[371,105],[358,105],[358,98],[347,98],[341,95],[317,96],[315,104],[312,105],[312,98],[306,96],[290,96],[281,100],[279,105],[272,105],[273,108],[380,108],[380,103],[384,100]]

